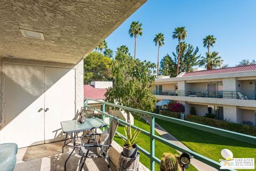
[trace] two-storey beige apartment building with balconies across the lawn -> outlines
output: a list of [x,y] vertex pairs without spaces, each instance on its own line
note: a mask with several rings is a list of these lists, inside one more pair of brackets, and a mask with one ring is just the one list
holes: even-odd
[[153,88],[157,100],[185,105],[185,115],[195,107],[197,115],[207,112],[220,120],[256,126],[256,64],[158,76]]

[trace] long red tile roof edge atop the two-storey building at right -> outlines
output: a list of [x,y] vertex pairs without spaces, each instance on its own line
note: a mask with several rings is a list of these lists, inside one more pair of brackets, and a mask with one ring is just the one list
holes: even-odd
[[256,64],[251,64],[247,66],[220,68],[220,69],[213,69],[213,70],[186,72],[185,74],[182,75],[182,77],[223,74],[223,73],[230,73],[230,72],[253,71],[253,70],[256,70]]

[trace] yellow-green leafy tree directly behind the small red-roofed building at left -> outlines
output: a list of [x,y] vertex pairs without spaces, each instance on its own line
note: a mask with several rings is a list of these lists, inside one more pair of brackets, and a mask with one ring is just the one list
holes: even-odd
[[84,83],[111,79],[111,59],[99,52],[91,52],[84,58]]

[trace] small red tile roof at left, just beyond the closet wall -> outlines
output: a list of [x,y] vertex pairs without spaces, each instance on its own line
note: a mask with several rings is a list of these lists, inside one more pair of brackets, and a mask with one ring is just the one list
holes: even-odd
[[94,88],[90,85],[84,85],[84,97],[94,100],[105,100],[106,88]]

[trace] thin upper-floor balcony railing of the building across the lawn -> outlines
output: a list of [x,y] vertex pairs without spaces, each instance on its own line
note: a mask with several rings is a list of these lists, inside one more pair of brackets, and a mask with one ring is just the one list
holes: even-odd
[[162,91],[154,92],[155,95],[189,96],[189,97],[210,97],[224,99],[247,99],[256,100],[255,91]]

